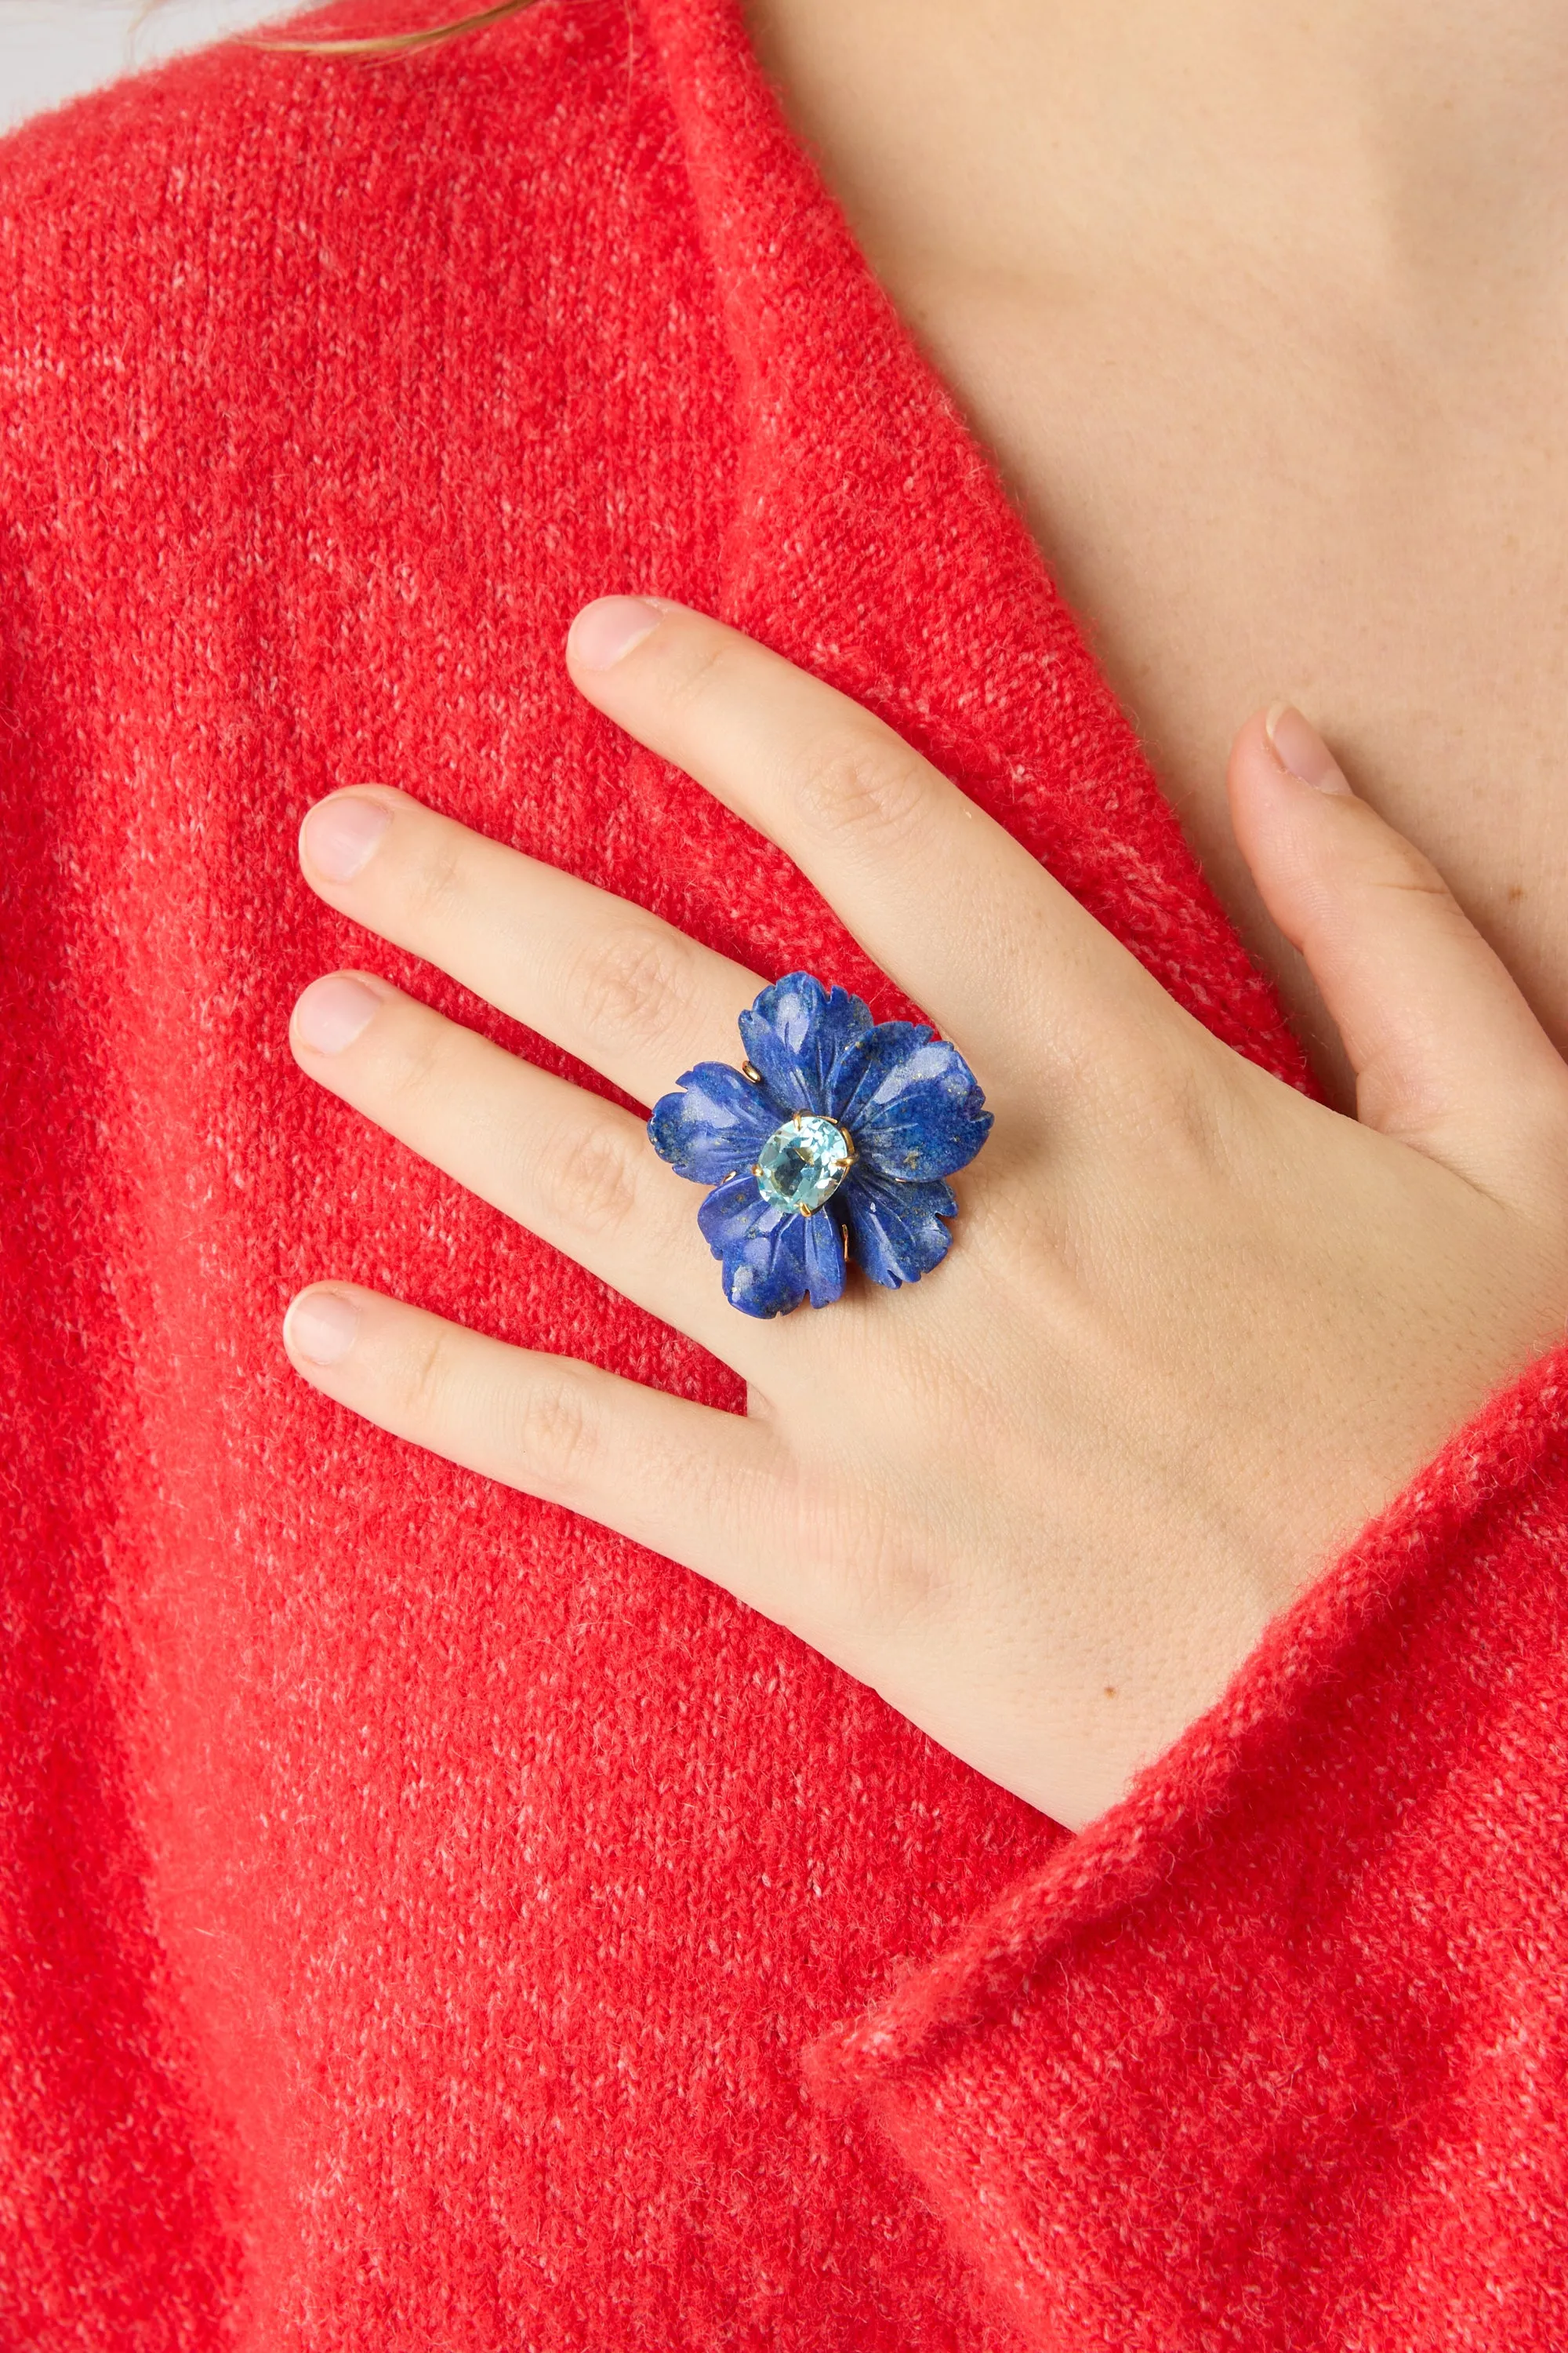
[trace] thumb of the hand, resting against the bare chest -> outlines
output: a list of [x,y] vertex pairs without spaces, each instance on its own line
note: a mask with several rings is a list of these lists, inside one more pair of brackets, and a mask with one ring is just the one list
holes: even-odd
[[1274,704],[1229,755],[1237,842],[1356,1073],[1356,1115],[1481,1184],[1561,1184],[1568,1068],[1436,868]]

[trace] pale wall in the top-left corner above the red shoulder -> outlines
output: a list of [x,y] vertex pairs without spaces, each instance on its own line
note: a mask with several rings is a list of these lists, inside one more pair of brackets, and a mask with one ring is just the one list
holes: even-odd
[[0,134],[78,89],[294,12],[287,0],[0,0]]

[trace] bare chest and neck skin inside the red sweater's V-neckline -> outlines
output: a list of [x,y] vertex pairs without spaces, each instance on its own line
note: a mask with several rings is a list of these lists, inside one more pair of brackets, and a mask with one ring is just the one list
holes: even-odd
[[1319,1073],[1225,758],[1300,704],[1568,1049],[1568,12],[748,0]]

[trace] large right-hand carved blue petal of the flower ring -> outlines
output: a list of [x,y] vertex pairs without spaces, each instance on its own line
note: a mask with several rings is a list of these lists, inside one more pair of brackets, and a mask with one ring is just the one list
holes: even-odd
[[992,1127],[959,1049],[917,1021],[879,1021],[846,1047],[827,1113],[851,1132],[860,1160],[898,1184],[952,1176]]

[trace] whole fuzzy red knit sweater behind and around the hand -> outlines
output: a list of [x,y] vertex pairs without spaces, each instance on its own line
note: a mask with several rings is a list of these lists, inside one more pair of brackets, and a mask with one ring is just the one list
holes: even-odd
[[1561,2353],[1561,1358],[1070,1838],[282,1355],[343,1275],[741,1405],[296,1071],[343,962],[571,1068],[306,889],[334,786],[907,1012],[571,692],[597,593],[860,696],[1307,1085],[733,0],[223,45],[0,228],[0,2344]]

